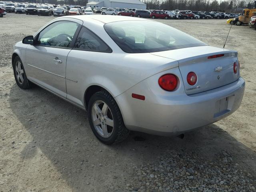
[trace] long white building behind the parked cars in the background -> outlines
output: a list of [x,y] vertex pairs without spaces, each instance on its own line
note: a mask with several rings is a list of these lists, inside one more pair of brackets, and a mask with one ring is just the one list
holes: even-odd
[[146,9],[146,4],[139,0],[88,0],[86,7]]

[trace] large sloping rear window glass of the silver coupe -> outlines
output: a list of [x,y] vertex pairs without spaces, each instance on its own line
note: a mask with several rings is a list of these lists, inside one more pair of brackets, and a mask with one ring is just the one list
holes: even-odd
[[119,21],[104,25],[108,35],[127,53],[147,53],[206,46],[168,25],[152,21]]

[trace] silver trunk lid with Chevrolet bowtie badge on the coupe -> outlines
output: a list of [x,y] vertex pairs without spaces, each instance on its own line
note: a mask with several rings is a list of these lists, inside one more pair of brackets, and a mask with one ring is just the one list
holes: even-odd
[[[237,52],[232,50],[200,46],[151,54],[178,61],[185,92],[188,95],[230,84],[235,82],[240,76],[239,70],[234,74],[234,62],[238,64],[238,59]],[[224,54],[224,56],[208,59],[208,56],[218,54]],[[191,86],[187,82],[189,72],[194,72],[197,76],[195,85]]]

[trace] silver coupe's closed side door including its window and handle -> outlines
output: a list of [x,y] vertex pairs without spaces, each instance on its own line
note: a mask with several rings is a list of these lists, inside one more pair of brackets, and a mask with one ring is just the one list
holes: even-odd
[[82,21],[60,19],[36,34],[26,48],[28,79],[66,98],[66,59]]

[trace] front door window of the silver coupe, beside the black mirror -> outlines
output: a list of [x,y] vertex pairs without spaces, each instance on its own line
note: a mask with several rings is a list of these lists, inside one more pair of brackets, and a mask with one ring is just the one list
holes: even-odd
[[40,32],[37,44],[68,48],[78,26],[78,23],[72,21],[54,22]]

